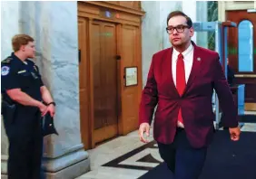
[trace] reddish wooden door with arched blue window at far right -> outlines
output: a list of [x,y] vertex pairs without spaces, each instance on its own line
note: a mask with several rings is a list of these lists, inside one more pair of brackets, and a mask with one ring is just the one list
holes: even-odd
[[226,14],[227,21],[237,24],[228,32],[229,65],[235,82],[245,84],[245,110],[256,110],[256,14],[246,10]]

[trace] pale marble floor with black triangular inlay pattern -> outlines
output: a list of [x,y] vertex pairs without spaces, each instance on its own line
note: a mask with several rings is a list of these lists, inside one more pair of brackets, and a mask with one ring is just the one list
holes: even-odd
[[[246,114],[256,115],[256,111]],[[256,123],[244,123],[241,131],[256,132]],[[162,162],[153,141],[153,128],[150,133],[148,144],[140,142],[138,131],[133,131],[89,150],[91,171],[76,179],[137,179],[147,173]]]

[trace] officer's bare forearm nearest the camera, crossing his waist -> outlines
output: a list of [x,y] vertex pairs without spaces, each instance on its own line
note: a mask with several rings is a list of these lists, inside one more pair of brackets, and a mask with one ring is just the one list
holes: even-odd
[[42,106],[44,106],[42,102],[31,98],[21,89],[7,89],[6,93],[11,99],[15,100],[16,102],[22,105],[33,106],[38,108],[42,108]]

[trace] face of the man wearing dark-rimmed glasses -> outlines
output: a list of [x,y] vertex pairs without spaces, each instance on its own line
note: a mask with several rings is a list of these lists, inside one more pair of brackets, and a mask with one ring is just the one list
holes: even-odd
[[[173,27],[179,28],[172,29]],[[193,35],[193,29],[188,27],[187,20],[182,15],[172,17],[168,22],[168,28],[172,29],[173,32],[169,34],[169,40],[172,43],[172,46],[182,46],[187,42],[191,41]]]

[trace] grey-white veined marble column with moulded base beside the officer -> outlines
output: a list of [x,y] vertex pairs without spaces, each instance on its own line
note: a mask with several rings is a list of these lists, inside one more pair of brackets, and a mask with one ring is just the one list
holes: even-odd
[[36,63],[56,102],[59,136],[44,137],[48,178],[73,179],[90,169],[81,142],[76,2],[21,2],[20,28],[35,39]]

